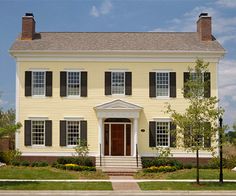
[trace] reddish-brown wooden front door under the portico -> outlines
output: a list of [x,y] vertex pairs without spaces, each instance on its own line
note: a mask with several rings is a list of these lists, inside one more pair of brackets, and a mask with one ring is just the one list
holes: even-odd
[[124,124],[111,125],[111,155],[124,156]]

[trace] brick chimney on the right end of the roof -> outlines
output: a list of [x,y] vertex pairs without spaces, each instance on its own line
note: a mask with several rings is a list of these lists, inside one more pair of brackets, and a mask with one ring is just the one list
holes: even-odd
[[197,32],[201,41],[212,41],[211,17],[208,13],[201,13],[197,21]]

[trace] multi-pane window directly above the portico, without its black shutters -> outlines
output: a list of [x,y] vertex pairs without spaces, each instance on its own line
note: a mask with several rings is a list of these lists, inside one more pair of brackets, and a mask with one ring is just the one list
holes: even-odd
[[125,93],[125,73],[124,72],[112,72],[111,93],[112,94]]

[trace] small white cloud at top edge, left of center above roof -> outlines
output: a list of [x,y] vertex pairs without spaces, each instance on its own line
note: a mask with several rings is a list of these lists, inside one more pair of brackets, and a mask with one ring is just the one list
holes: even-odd
[[112,10],[112,3],[109,0],[105,0],[99,7],[93,6],[90,10],[90,14],[94,17],[109,14]]

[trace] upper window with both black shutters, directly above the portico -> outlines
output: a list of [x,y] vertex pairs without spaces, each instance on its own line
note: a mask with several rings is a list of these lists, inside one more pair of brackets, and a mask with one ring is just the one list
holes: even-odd
[[105,95],[132,95],[132,72],[105,72]]

